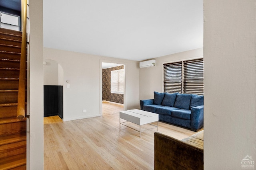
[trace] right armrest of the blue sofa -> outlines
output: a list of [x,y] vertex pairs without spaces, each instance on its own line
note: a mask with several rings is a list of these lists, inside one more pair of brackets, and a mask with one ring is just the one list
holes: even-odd
[[198,131],[204,126],[204,105],[191,108],[191,129]]

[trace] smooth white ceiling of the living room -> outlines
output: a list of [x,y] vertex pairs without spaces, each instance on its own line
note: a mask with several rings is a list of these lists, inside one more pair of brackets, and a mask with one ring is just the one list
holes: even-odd
[[44,0],[44,47],[142,61],[203,47],[203,0]]

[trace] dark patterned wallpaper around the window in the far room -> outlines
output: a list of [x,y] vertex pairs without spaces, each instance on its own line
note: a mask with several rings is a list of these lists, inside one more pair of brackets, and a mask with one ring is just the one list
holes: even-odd
[[102,100],[124,104],[124,95],[111,93],[111,71],[124,69],[124,66],[102,69]]

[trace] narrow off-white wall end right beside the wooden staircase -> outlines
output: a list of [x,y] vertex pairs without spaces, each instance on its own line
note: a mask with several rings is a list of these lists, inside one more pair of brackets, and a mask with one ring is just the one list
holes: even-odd
[[44,77],[43,77],[43,0],[29,3],[30,59],[27,169],[44,169]]

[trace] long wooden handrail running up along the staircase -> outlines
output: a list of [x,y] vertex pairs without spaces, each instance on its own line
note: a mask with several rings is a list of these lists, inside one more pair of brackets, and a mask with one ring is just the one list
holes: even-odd
[[17,119],[25,118],[25,90],[26,90],[26,46],[27,46],[27,0],[24,1],[24,12],[22,17],[22,40],[20,54],[20,76],[18,91]]

